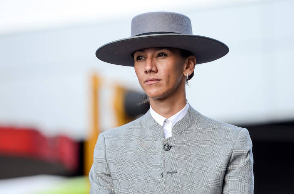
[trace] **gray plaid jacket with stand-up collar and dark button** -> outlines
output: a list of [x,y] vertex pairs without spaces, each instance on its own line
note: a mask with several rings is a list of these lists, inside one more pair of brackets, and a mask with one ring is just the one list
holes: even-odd
[[164,139],[150,114],[99,134],[90,193],[253,193],[252,141],[246,128],[188,113]]

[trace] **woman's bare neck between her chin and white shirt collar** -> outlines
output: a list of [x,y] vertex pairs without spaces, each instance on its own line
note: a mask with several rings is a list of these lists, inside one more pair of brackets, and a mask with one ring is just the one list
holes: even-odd
[[186,93],[180,96],[170,96],[165,99],[149,98],[149,101],[152,109],[165,118],[175,115],[187,104]]

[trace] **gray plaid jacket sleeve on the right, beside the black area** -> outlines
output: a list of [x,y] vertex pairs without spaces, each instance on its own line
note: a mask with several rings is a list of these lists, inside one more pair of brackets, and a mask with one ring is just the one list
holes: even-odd
[[246,128],[240,130],[223,180],[223,194],[253,194],[252,141]]

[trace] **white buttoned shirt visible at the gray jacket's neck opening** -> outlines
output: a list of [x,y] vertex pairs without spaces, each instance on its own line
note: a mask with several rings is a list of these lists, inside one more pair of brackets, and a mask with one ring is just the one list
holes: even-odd
[[151,116],[154,118],[154,120],[156,120],[156,122],[158,122],[162,126],[164,138],[168,138],[172,136],[173,125],[175,125],[176,122],[181,120],[186,115],[186,113],[188,112],[188,108],[189,108],[189,103],[187,100],[187,104],[184,106],[184,108],[182,108],[182,110],[180,110],[178,113],[174,114],[173,116],[167,119],[161,116],[160,114],[156,113],[153,110],[153,108],[150,106]]

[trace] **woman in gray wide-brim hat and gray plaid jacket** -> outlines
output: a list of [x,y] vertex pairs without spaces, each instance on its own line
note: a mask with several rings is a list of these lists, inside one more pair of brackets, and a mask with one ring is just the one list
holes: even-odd
[[150,110],[99,134],[90,193],[253,193],[248,130],[208,118],[186,99],[196,60],[227,52],[224,43],[193,35],[190,19],[173,12],[135,16],[130,38],[98,48],[99,59],[134,66]]

